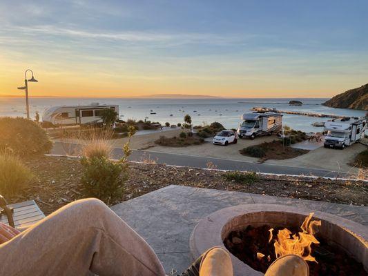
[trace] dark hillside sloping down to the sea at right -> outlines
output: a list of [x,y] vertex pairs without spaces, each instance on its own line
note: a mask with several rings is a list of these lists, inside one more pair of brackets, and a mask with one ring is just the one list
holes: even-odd
[[368,111],[368,83],[360,88],[347,90],[332,99],[329,99],[323,106],[331,108],[351,108]]

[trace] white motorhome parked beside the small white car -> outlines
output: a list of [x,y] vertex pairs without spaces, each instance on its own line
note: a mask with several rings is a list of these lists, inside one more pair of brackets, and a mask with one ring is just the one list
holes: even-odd
[[253,112],[242,115],[238,136],[254,139],[256,136],[271,135],[282,128],[282,114],[278,112]]

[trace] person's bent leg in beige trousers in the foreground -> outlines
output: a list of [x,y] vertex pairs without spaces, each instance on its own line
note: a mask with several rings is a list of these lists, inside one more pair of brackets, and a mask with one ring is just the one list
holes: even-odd
[[0,275],[165,275],[144,239],[97,199],[68,204],[1,244],[0,264]]

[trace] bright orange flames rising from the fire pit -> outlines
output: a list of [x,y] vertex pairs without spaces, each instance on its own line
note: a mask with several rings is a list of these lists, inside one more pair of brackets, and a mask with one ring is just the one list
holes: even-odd
[[[304,219],[298,235],[294,234],[291,236],[291,231],[287,228],[278,231],[275,246],[276,258],[287,254],[299,255],[306,261],[316,262],[316,259],[311,255],[311,244],[319,244],[316,237],[313,236],[315,233],[313,228],[321,225],[321,221],[314,220],[311,218],[314,213],[310,213],[308,217]],[[291,236],[291,237],[290,237]]]

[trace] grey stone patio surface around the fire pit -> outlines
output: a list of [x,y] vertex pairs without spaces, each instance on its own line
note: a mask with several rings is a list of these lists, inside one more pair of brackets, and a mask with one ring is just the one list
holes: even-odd
[[297,206],[345,217],[368,227],[368,207],[365,206],[175,185],[130,199],[111,209],[153,247],[166,273],[172,268],[182,273],[193,262],[189,239],[197,222],[216,210],[239,204]]

